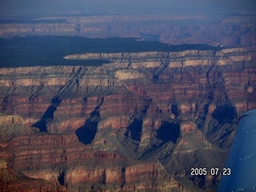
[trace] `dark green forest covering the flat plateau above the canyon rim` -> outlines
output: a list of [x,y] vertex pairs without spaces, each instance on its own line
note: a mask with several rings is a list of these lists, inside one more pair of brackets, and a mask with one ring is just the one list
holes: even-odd
[[107,61],[70,61],[67,54],[118,53],[142,51],[219,50],[207,45],[172,46],[161,42],[138,41],[136,38],[82,38],[26,36],[0,38],[0,67],[18,66],[92,66]]

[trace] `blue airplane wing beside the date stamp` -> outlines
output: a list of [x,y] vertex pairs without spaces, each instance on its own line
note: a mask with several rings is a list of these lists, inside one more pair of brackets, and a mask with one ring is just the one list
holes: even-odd
[[242,115],[218,191],[256,191],[256,109]]

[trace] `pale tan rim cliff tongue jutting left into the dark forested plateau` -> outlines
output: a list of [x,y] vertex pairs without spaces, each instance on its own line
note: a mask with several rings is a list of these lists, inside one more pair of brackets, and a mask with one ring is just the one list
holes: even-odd
[[[251,60],[246,49],[233,48],[222,50],[183,50],[179,52],[142,52],[142,53],[114,53],[114,54],[72,54],[66,55],[66,59],[102,59],[111,62],[132,62],[132,69],[141,67],[159,67],[163,62],[168,63],[170,68],[182,66],[225,66],[233,62],[248,62]],[[123,72],[124,71],[120,71]],[[126,72],[127,77],[132,74]],[[138,76],[142,78],[142,76]]]

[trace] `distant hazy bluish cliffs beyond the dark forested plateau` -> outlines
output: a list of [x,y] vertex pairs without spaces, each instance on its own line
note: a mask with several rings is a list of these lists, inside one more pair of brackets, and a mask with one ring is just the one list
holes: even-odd
[[[56,23],[58,19],[62,22]],[[174,45],[206,43],[248,46],[256,43],[254,21],[254,15],[242,14],[103,15],[42,20],[37,18],[32,23],[2,23],[0,36],[44,34],[90,38],[134,37]]]

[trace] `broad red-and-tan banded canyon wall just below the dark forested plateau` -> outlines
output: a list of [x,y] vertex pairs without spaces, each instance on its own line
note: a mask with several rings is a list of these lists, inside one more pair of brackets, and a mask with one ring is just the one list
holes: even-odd
[[[111,63],[3,68],[2,112],[22,116],[28,126],[41,119],[48,131],[65,133],[94,116],[174,114],[196,120],[201,114],[214,113],[222,103],[229,103],[238,115],[255,106],[254,60],[243,49],[65,58]],[[211,103],[215,106],[208,111]]]

